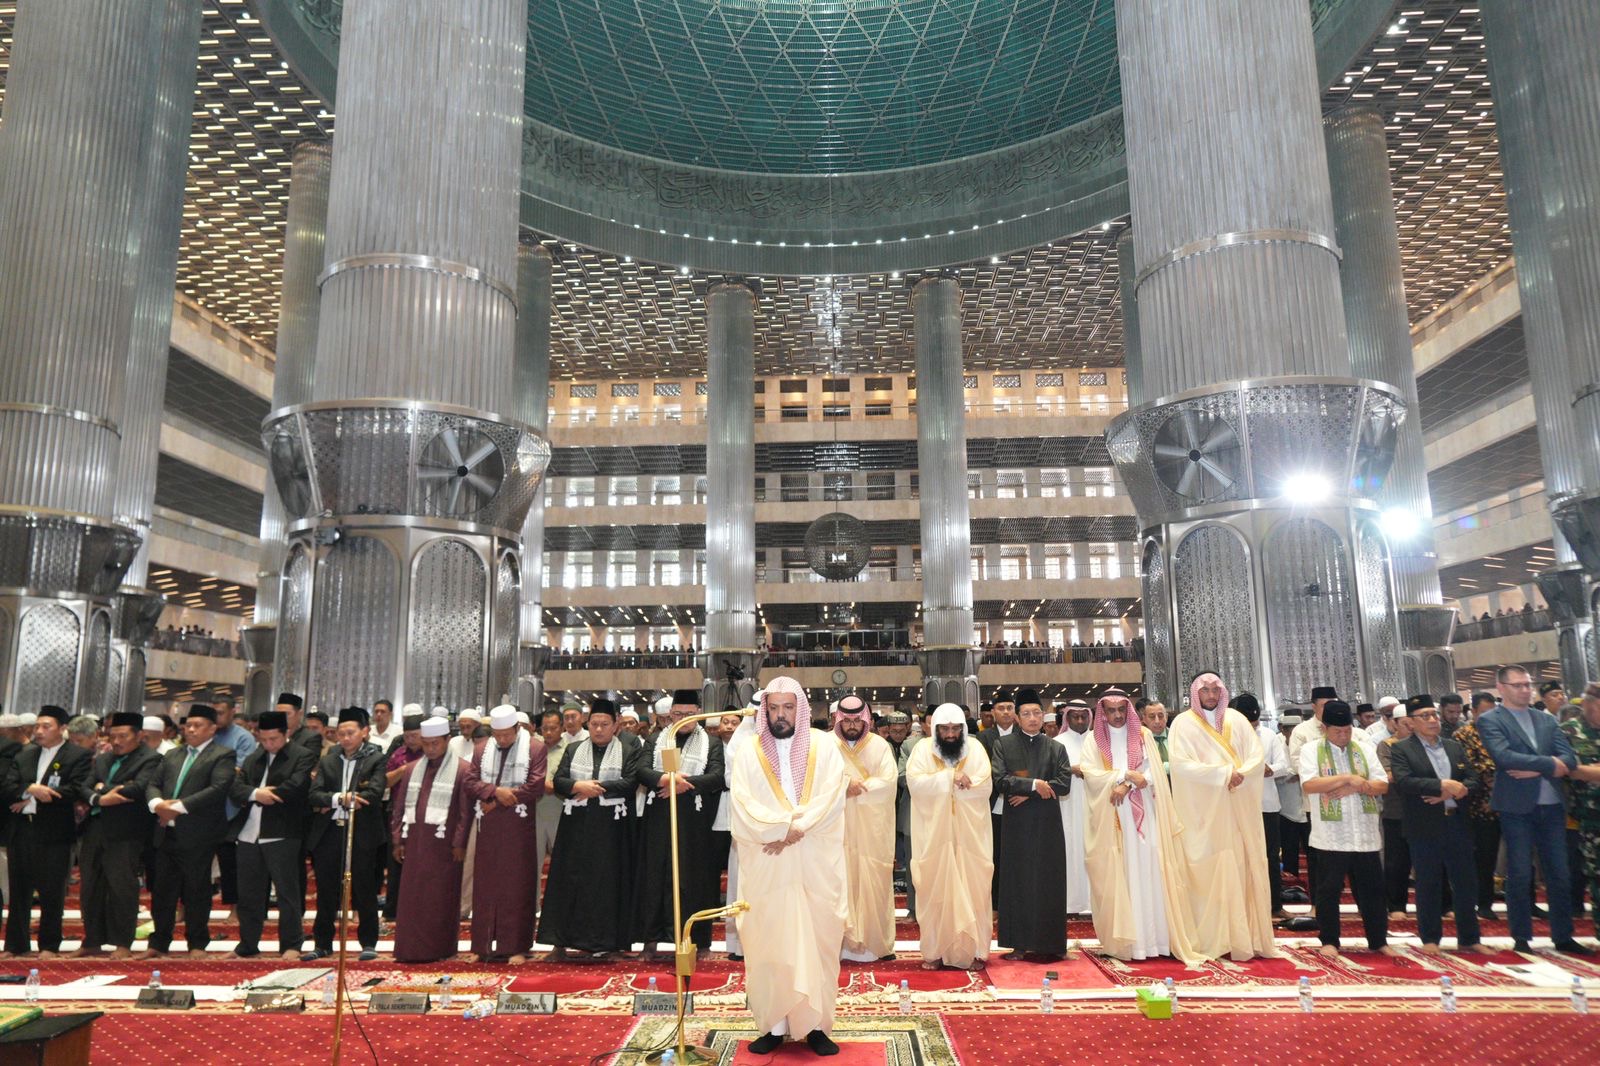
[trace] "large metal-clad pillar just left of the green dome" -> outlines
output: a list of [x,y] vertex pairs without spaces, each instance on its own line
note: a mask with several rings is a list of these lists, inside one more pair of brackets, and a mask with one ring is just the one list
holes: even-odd
[[312,704],[483,706],[509,683],[522,523],[549,461],[496,413],[526,14],[344,5],[312,402],[262,431],[288,519],[275,672]]

